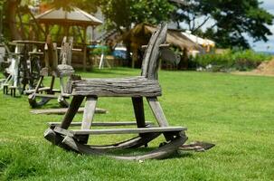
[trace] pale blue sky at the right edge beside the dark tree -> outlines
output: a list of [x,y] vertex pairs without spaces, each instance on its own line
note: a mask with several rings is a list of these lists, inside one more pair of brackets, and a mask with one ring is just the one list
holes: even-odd
[[[263,3],[261,6],[264,9],[266,9],[270,14],[274,14],[274,0],[261,0],[261,2]],[[269,26],[269,30],[273,35],[268,36],[269,41],[267,43],[263,41],[253,43],[252,40],[250,40],[250,45],[255,51],[274,52],[274,25]]]

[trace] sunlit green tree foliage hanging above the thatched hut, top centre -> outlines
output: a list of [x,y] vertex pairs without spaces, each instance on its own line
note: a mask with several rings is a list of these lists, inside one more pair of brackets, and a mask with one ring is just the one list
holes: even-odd
[[168,21],[174,6],[167,0],[100,0],[100,8],[106,17],[106,27],[127,30],[131,24],[159,24]]

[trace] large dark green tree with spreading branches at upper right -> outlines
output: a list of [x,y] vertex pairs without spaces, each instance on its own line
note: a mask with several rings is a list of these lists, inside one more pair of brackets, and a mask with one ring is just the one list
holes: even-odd
[[[195,33],[207,22],[207,34],[221,47],[238,46],[249,48],[247,36],[256,41],[267,41],[268,25],[272,25],[274,16],[260,7],[258,0],[185,0],[184,4],[175,4],[173,19],[188,24]],[[203,21],[197,24],[197,19]]]

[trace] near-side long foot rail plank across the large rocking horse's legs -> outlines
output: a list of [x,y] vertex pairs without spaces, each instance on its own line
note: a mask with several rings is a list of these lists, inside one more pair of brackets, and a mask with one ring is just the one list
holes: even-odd
[[106,134],[139,134],[139,133],[164,133],[164,132],[181,132],[186,130],[184,127],[153,127],[137,129],[80,129],[67,130],[55,127],[54,131],[63,135],[106,135]]

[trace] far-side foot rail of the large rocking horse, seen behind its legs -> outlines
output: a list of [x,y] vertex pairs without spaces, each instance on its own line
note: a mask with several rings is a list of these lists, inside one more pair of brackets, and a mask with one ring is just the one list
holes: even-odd
[[[48,122],[50,127],[60,126],[61,122]],[[135,121],[119,121],[119,122],[92,122],[92,127],[121,127],[121,126],[136,126]],[[152,125],[151,121],[146,121],[145,127]],[[71,122],[71,127],[79,127],[81,122]]]

